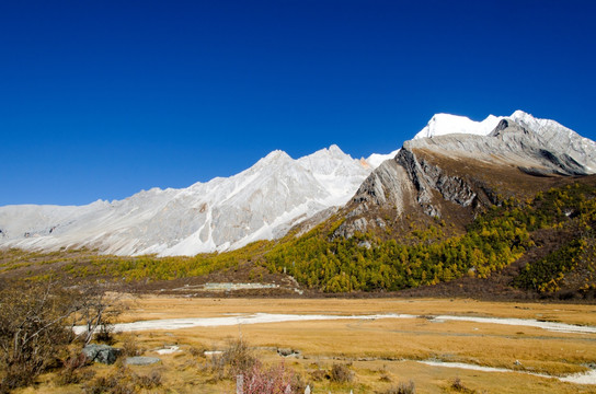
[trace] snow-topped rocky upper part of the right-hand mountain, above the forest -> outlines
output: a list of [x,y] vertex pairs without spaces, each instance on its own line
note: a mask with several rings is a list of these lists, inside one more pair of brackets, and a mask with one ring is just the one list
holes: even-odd
[[480,123],[435,115],[366,178],[336,235],[382,230],[387,218],[404,215],[465,224],[506,197],[530,197],[561,176],[594,173],[595,154],[594,141],[520,111]]

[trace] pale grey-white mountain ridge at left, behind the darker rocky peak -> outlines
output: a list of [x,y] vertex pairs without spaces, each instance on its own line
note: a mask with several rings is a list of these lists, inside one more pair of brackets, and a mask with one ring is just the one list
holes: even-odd
[[89,246],[119,255],[238,248],[344,205],[370,171],[336,146],[298,160],[274,151],[237,175],[183,189],[82,207],[0,207],[0,246]]

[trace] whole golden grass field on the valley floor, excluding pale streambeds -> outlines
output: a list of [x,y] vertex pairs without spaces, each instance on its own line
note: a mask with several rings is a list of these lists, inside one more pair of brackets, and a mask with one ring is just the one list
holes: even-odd
[[[480,302],[473,300],[433,299],[186,299],[175,297],[127,298],[128,310],[121,322],[141,320],[215,317],[230,313],[256,312],[289,314],[376,314],[404,313],[417,318],[336,320],[268,323],[225,327],[195,327],[176,331],[121,334],[133,336],[146,349],[146,356],[158,356],[152,349],[177,345],[182,351],[159,356],[159,367],[169,393],[233,393],[230,381],[208,383],[202,368],[203,356],[191,349],[224,349],[230,339],[242,337],[265,363],[280,362],[276,348],[300,350],[302,357],[286,358],[285,363],[309,381],[317,369],[329,369],[334,362],[351,363],[352,383],[339,385],[329,381],[313,382],[312,393],[386,392],[399,382],[412,380],[416,393],[450,393],[459,378],[469,393],[596,393],[596,385],[564,383],[558,379],[525,373],[482,372],[431,367],[415,360],[436,359],[478,366],[517,369],[528,372],[563,375],[586,371],[596,362],[595,334],[568,334],[527,326],[507,326],[470,322],[433,322],[425,315],[473,315],[538,318],[569,324],[596,326],[593,305]],[[195,351],[196,354],[196,351]],[[520,364],[516,364],[516,361]],[[98,373],[114,367],[95,366]],[[151,367],[130,367],[139,373]],[[383,378],[383,379],[381,379]],[[47,384],[22,393],[77,393],[77,386],[53,387]],[[389,380],[389,381],[388,381]],[[43,387],[43,389],[42,389]]]

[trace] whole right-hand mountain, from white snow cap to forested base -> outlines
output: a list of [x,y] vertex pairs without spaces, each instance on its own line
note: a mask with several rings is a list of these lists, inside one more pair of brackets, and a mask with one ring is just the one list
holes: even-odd
[[435,116],[337,213],[270,246],[266,266],[324,292],[592,300],[595,151],[522,112]]

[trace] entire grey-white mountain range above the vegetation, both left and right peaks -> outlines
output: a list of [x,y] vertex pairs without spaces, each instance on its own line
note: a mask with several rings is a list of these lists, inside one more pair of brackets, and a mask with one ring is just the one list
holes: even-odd
[[[486,164],[490,169],[507,166],[512,179],[519,170],[530,177],[596,172],[596,143],[554,120],[537,119],[522,111],[508,117],[491,115],[482,121],[437,114],[401,149],[366,160],[354,160],[336,146],[297,160],[274,151],[237,175],[187,188],[153,188],[123,200],[81,207],[0,207],[0,247],[51,251],[88,246],[119,255],[195,255],[283,236],[303,220],[324,220],[324,215],[317,213],[351,199],[362,206],[353,210],[359,216],[371,201],[381,206],[388,198],[387,204],[398,211],[415,199],[436,213],[428,190],[437,184],[446,187],[438,192],[449,196],[465,183],[454,184],[451,175],[440,175],[443,170],[428,164],[432,160],[419,162],[416,154],[459,160],[456,167],[465,162],[481,163],[481,170]],[[411,177],[419,173],[424,176],[413,182]],[[425,178],[431,185],[426,194],[421,192]],[[478,193],[463,187],[461,200],[468,204],[489,186]],[[357,220],[353,215],[348,222]]]

